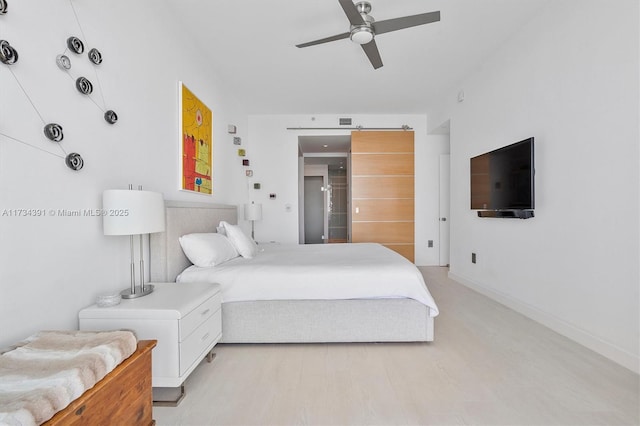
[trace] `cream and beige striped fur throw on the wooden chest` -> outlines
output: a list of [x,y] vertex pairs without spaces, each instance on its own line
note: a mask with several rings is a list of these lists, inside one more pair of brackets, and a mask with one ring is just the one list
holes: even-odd
[[0,425],[39,425],[135,352],[130,331],[42,331],[0,354]]

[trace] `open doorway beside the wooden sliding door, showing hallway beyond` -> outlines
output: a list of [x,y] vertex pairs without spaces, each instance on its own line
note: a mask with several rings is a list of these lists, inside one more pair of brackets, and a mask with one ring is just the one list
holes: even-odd
[[300,243],[351,240],[351,136],[300,136]]

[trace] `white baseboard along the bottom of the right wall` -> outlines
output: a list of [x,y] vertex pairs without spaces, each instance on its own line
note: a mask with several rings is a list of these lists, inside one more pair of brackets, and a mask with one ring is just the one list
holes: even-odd
[[487,288],[484,285],[469,278],[457,275],[451,271],[449,272],[449,278],[459,282],[465,287],[469,287],[470,289],[489,297],[490,299],[495,300],[498,303],[507,306],[510,309],[513,309],[516,312],[521,313],[522,315],[544,325],[545,327],[550,328],[556,333],[562,334],[563,336],[581,344],[582,346],[585,346],[592,351],[597,352],[598,354],[622,365],[623,367],[628,368],[634,373],[640,374],[640,357],[638,357],[637,355],[629,353],[628,351],[625,351],[624,349],[621,349],[616,345],[606,342],[585,330],[582,330],[552,314],[549,314],[548,312],[544,312],[536,308],[535,306],[524,303],[496,290]]

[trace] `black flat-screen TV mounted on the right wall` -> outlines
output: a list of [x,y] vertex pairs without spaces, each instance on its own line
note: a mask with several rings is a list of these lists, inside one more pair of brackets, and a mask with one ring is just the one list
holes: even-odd
[[471,158],[471,209],[481,217],[533,217],[533,138]]

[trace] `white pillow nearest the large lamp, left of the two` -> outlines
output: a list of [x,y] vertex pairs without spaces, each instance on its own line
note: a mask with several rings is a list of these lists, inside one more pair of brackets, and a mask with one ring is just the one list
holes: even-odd
[[231,241],[221,234],[187,234],[179,238],[182,251],[200,267],[216,266],[238,257]]

